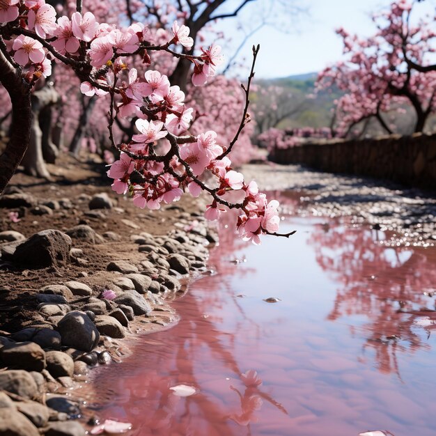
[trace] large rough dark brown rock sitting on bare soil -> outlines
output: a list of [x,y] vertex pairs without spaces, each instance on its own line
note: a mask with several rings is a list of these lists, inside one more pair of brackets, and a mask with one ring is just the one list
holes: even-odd
[[59,230],[35,233],[22,242],[13,254],[13,262],[31,267],[65,265],[70,261],[71,238]]

